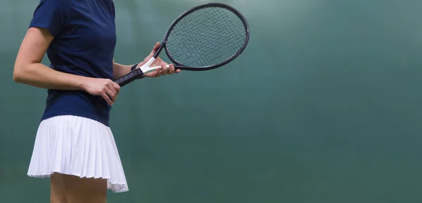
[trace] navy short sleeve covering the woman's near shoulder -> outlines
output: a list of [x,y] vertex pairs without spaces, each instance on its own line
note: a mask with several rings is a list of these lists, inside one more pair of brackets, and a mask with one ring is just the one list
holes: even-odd
[[57,37],[65,23],[70,0],[41,0],[34,11],[30,27],[41,27]]

